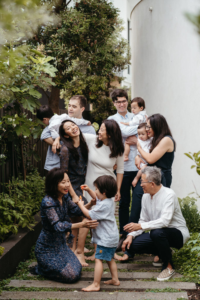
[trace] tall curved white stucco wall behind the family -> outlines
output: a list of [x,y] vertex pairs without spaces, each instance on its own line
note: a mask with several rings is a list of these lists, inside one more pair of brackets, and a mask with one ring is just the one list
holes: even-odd
[[199,0],[142,0],[131,13],[132,97],[145,99],[148,115],[167,119],[177,143],[171,187],[181,198],[193,183],[200,193],[200,176],[184,155],[200,150],[200,42],[184,16],[199,10]]

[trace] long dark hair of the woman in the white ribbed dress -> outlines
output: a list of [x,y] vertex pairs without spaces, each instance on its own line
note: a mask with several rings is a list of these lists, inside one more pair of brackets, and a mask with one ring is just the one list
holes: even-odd
[[[110,147],[111,154],[109,158],[117,158],[118,155],[124,154],[124,143],[122,140],[121,130],[115,120],[103,120],[102,124],[106,126],[106,135],[109,138],[108,146]],[[100,148],[103,142],[97,139],[96,147]]]

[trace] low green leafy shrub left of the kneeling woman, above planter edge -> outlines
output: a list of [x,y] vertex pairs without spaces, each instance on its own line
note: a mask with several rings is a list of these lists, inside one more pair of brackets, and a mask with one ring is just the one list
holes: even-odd
[[4,184],[6,192],[0,194],[0,240],[9,232],[16,234],[19,226],[31,230],[36,222],[33,215],[39,211],[44,196],[44,178],[36,170],[26,175],[26,180],[12,178]]

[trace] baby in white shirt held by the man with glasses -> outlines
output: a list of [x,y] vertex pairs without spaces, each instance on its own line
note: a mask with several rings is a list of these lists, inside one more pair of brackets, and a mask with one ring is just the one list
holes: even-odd
[[[131,112],[134,114],[132,120],[130,122],[124,123],[120,122],[121,124],[127,125],[127,126],[135,126],[139,125],[140,123],[146,122],[146,110],[145,109],[145,101],[140,98],[136,97],[133,98],[133,100],[130,103],[131,106]],[[124,145],[124,161],[128,161],[128,155],[130,152],[130,145],[128,145],[125,142]]]

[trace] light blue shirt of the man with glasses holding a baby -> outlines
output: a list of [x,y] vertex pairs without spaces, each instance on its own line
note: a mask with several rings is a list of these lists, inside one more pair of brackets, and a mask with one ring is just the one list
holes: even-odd
[[[138,125],[126,126],[124,124],[121,124],[120,122],[124,122],[124,123],[130,122],[133,117],[134,115],[132,113],[129,113],[128,111],[125,117],[121,116],[118,112],[115,115],[108,117],[108,120],[113,119],[116,122],[118,122],[118,125],[121,129],[121,135],[124,143],[127,137],[137,134]],[[128,161],[124,161],[124,171],[138,171],[138,168],[135,165],[136,155],[137,155],[137,146],[136,145],[130,146]]]

